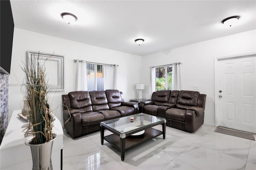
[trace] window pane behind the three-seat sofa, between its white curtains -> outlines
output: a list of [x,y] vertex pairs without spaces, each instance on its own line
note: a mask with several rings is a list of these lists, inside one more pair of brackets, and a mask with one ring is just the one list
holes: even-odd
[[86,63],[87,67],[87,89],[104,90],[103,65]]

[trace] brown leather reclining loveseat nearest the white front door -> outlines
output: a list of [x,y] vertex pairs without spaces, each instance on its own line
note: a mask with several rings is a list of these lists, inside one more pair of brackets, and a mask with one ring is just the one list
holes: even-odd
[[150,101],[141,101],[140,113],[166,118],[166,125],[195,132],[204,124],[206,95],[198,91],[159,90]]

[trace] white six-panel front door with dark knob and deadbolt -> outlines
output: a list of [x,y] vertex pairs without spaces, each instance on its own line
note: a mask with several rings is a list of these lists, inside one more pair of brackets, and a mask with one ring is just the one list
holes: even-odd
[[218,125],[256,133],[256,60],[218,61]]

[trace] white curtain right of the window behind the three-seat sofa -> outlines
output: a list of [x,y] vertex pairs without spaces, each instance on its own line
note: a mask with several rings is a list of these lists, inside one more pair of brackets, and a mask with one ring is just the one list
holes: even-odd
[[103,65],[104,90],[116,89],[117,65]]

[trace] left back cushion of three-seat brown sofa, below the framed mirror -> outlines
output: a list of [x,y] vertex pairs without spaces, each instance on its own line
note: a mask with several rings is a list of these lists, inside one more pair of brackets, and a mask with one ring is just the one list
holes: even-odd
[[92,101],[88,91],[72,91],[68,93],[70,108],[82,109],[83,112],[92,111]]

